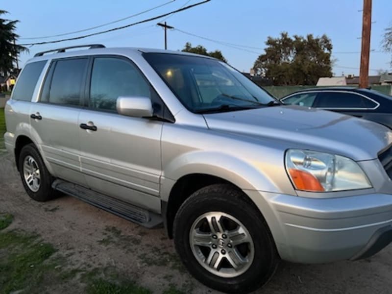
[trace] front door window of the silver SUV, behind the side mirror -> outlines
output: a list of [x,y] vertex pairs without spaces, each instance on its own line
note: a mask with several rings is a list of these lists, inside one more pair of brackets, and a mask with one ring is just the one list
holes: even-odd
[[151,98],[150,86],[130,62],[115,57],[95,58],[91,73],[90,106],[115,111],[120,96]]

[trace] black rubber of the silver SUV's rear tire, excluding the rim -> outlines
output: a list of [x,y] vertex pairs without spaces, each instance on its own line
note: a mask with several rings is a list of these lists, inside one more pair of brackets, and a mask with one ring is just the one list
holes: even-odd
[[[25,182],[25,177],[23,174],[23,164],[27,156],[32,156],[40,169],[40,188],[37,192],[31,191]],[[33,144],[28,144],[22,148],[21,153],[19,154],[18,167],[23,186],[28,196],[30,196],[36,201],[47,201],[53,197],[53,190],[51,188],[51,175],[46,168],[37,148]]]

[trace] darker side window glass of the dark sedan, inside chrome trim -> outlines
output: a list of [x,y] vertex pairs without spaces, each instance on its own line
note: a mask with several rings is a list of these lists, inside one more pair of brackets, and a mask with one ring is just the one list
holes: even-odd
[[320,108],[367,108],[365,99],[356,94],[343,92],[323,92],[317,96]]

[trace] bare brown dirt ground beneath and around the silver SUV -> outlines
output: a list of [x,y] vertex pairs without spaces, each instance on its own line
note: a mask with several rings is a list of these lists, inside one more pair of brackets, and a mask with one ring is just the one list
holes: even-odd
[[[39,203],[25,193],[9,155],[0,157],[0,212],[14,221],[7,229],[39,234],[73,268],[111,267],[135,283],[163,293],[217,293],[182,267],[164,229],[148,230],[70,196]],[[47,293],[82,293],[77,275],[46,285]],[[167,292],[169,293],[169,292]],[[282,262],[270,283],[256,293],[392,293],[392,245],[370,259],[327,265]]]

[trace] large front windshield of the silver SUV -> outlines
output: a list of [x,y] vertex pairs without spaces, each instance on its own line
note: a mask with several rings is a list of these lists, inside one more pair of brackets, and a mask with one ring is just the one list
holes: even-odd
[[276,100],[270,94],[216,59],[170,53],[145,53],[144,57],[181,103],[194,113],[275,105]]

